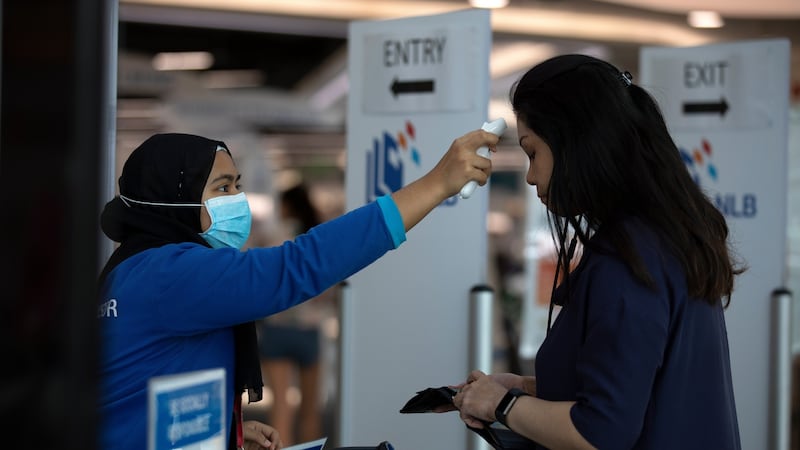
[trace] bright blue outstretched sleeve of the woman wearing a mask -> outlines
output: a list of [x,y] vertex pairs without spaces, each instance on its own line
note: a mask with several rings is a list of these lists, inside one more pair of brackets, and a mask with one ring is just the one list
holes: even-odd
[[164,326],[173,330],[193,333],[258,320],[319,295],[394,249],[397,237],[390,226],[397,226],[399,212],[388,200],[380,202],[383,207],[368,203],[274,247],[153,249],[125,284],[134,291],[150,286],[148,297]]

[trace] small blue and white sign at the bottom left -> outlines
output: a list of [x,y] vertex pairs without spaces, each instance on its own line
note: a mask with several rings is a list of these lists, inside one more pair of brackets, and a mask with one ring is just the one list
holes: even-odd
[[148,382],[148,450],[225,450],[225,369]]

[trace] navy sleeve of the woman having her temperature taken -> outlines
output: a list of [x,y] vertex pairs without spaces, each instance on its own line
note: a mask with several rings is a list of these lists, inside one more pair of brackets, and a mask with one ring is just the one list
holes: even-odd
[[631,448],[643,426],[669,335],[669,299],[604,258],[589,279],[578,350],[575,427],[597,448]]

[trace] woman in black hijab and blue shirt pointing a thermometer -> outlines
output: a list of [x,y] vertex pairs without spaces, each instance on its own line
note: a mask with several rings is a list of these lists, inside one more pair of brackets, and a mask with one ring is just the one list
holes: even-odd
[[157,134],[130,155],[101,216],[118,248],[99,279],[103,449],[147,447],[147,383],[204,369],[227,374],[229,448],[280,447],[274,429],[241,422],[242,392],[262,380],[254,321],[310,299],[406,239],[406,232],[491,162],[498,138],[456,139],[430,172],[293,241],[240,251],[250,210],[223,142]]

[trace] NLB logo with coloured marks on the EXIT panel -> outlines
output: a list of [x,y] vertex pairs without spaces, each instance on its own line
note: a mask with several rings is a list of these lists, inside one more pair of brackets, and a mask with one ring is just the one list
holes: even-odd
[[[711,143],[703,138],[700,146],[691,151],[684,147],[678,147],[681,158],[689,170],[689,174],[694,178],[695,183],[703,188],[709,181],[717,183],[719,174],[717,166],[712,159],[713,148]],[[728,217],[752,218],[755,217],[758,208],[755,194],[739,193],[716,193],[714,202],[717,208]]]

